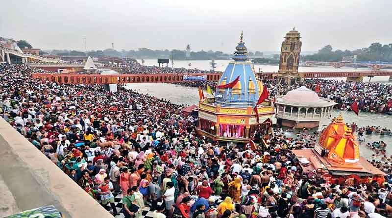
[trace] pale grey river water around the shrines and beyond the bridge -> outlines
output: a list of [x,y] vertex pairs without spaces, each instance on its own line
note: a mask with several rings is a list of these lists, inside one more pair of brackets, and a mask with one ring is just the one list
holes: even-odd
[[[138,60],[141,62],[141,60]],[[192,64],[192,68],[197,68],[200,70],[209,70],[209,63],[211,61],[206,60],[197,60],[197,61],[175,61],[174,67],[183,67],[189,68],[188,63]],[[216,68],[217,71],[224,71],[229,60],[216,60],[218,66]],[[145,65],[153,66],[156,64],[156,59],[146,59]],[[254,69],[257,72],[258,68],[261,68],[264,72],[276,72],[278,70],[278,66],[271,65],[254,65]],[[333,67],[300,67],[300,72],[331,72],[331,71],[368,71],[369,69],[364,68],[341,68],[335,69]],[[372,82],[389,82],[388,76],[383,77],[374,77],[372,78]],[[334,78],[334,79],[345,79],[345,78]],[[367,79],[365,78],[365,82]],[[170,100],[175,104],[197,104],[198,95],[197,88],[195,87],[184,87],[181,85],[168,84],[168,83],[139,83],[139,84],[126,84],[125,88],[132,89],[138,91],[139,93],[148,94],[158,98],[165,98]],[[332,117],[338,116],[341,113],[340,110],[335,110],[332,113]],[[390,115],[381,115],[381,114],[370,114],[370,113],[360,113],[359,117],[357,117],[353,112],[342,112],[344,121],[346,123],[356,122],[359,127],[374,125],[374,126],[382,126],[392,129],[392,116]],[[320,126],[318,130],[322,130],[325,125],[328,125],[330,122],[329,119],[325,119],[320,122]],[[392,136],[380,136],[377,134],[366,135],[366,143],[372,143],[374,141],[384,141],[387,146],[387,154],[392,155]],[[370,158],[374,152],[368,149],[364,143],[360,146],[360,153],[362,156]],[[378,158],[376,158],[378,159]]]

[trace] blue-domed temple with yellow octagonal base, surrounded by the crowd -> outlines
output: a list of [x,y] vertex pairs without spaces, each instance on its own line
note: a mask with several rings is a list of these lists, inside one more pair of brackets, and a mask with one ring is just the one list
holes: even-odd
[[272,102],[257,105],[259,121],[254,110],[263,90],[248,61],[241,33],[233,61],[222,73],[214,97],[199,101],[198,133],[215,142],[245,144],[256,132],[267,131],[274,114]]

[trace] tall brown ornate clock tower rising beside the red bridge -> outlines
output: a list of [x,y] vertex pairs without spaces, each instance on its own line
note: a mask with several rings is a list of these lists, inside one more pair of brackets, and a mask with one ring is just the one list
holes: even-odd
[[302,47],[300,38],[300,34],[295,28],[286,33],[280,50],[278,83],[291,84],[301,78],[298,74],[299,56]]

